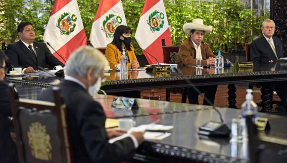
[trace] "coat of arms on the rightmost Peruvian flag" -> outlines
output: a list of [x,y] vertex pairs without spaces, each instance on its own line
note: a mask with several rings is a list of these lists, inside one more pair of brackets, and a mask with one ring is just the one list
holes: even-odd
[[148,16],[148,20],[146,21],[152,33],[155,31],[160,31],[164,25],[164,14],[158,10],[155,10]]

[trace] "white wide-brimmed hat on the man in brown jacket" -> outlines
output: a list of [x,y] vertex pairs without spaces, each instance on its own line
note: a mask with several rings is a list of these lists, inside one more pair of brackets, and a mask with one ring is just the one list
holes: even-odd
[[208,34],[212,31],[212,26],[203,25],[202,19],[193,19],[192,23],[187,23],[183,26],[183,30],[188,35],[191,34],[191,30],[200,30],[204,31],[205,34]]

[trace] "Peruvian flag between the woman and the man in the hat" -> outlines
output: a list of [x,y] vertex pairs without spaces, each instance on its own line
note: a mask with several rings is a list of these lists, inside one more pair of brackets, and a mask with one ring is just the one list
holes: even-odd
[[[135,39],[145,51],[163,63],[161,39],[165,39],[166,45],[171,45],[163,0],[145,0]],[[150,55],[145,52],[144,55],[149,64],[156,63]]]

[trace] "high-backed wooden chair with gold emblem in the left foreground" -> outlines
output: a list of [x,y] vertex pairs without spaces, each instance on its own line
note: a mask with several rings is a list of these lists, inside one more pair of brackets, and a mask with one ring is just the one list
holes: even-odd
[[54,103],[18,98],[9,84],[19,163],[71,163],[71,144],[66,105],[59,87],[53,88]]

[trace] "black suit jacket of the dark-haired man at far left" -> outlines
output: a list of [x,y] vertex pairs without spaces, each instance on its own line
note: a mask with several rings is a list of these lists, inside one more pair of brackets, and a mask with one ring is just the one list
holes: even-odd
[[33,46],[36,50],[37,63],[32,59],[32,53],[27,46],[22,41],[17,41],[7,47],[8,64],[22,68],[31,66],[34,70],[38,70],[38,66],[45,68],[47,64],[50,66],[65,66],[50,53],[45,43],[33,42]]

